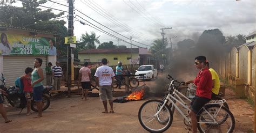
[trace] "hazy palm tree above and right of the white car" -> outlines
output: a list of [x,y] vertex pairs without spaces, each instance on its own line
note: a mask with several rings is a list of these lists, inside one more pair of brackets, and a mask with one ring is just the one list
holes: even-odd
[[166,55],[166,46],[167,46],[167,38],[165,38],[164,43],[162,39],[154,40],[152,43],[152,47],[150,48],[153,56],[157,58],[163,58],[163,55]]

